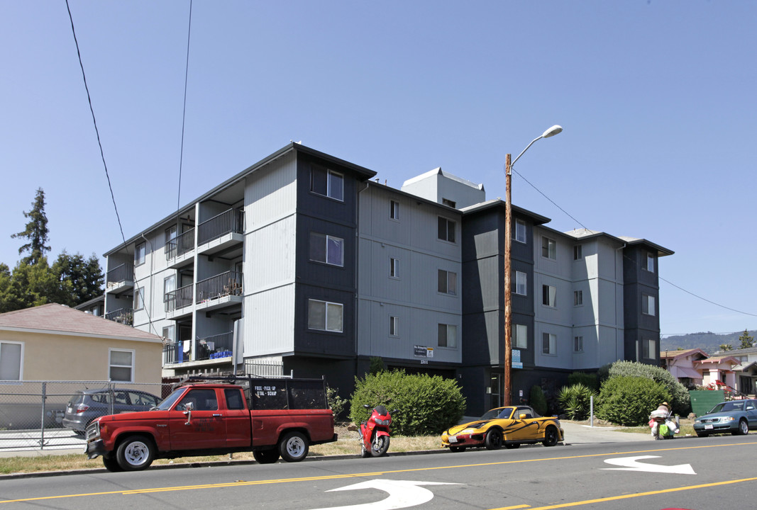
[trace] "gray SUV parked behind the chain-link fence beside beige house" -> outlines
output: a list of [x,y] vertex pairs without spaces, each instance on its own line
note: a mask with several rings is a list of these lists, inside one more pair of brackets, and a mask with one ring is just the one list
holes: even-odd
[[108,414],[149,411],[160,403],[160,398],[146,391],[114,388],[111,390],[84,390],[76,394],[66,404],[63,426],[73,428],[78,435],[84,435],[87,425],[93,419]]

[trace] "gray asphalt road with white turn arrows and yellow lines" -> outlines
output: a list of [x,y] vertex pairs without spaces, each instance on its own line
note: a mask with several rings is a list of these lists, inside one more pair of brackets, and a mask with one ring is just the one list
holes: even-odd
[[757,435],[0,481],[0,508],[755,508]]

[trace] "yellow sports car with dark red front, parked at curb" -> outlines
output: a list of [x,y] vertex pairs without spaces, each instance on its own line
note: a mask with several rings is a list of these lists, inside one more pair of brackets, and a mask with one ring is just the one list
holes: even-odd
[[544,444],[553,447],[564,439],[556,418],[539,416],[529,406],[497,407],[484,413],[475,422],[448,428],[441,434],[441,446],[452,452],[466,448],[487,450],[517,448],[522,444]]

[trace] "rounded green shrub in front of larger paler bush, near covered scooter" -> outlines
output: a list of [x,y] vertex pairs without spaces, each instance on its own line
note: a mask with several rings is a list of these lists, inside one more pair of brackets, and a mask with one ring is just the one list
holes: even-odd
[[670,402],[670,393],[659,382],[646,377],[615,376],[600,390],[597,416],[618,425],[644,425],[650,413],[662,402]]

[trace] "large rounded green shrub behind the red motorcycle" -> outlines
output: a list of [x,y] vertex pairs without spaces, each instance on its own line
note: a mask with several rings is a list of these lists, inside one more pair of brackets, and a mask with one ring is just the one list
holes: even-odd
[[392,433],[408,436],[441,434],[456,425],[466,409],[466,400],[455,380],[400,370],[368,374],[362,380],[355,378],[350,419],[355,423],[365,421],[378,404],[390,412],[397,410],[391,415]]

